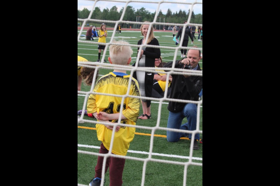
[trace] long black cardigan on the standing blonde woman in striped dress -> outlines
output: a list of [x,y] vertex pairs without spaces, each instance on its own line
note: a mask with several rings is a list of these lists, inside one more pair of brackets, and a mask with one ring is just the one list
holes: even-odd
[[[142,40],[138,41],[138,45],[142,44]],[[159,46],[160,44],[158,43],[158,40],[154,38],[148,45],[157,45]],[[138,48],[139,50],[139,48]],[[143,52],[145,55],[145,67],[155,67],[155,58],[160,58],[160,49],[159,48],[151,48],[151,47],[146,47],[146,50]],[[132,65],[135,66],[135,63]],[[148,75],[150,74],[150,75]],[[136,77],[136,71],[133,73],[133,77],[137,80]],[[146,97],[152,97],[152,90],[153,90],[153,79],[154,79],[154,73],[146,72],[145,74],[145,94]],[[147,100],[147,106],[149,107],[151,104],[151,100]]]

